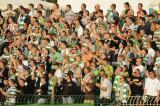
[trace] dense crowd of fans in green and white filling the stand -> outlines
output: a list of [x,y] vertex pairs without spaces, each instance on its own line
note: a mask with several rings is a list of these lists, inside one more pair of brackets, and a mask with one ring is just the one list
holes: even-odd
[[13,103],[17,94],[51,95],[54,102],[61,95],[69,104],[84,95],[85,103],[107,105],[111,97],[127,103],[143,96],[158,103],[160,9],[149,14],[139,3],[136,12],[128,2],[122,8],[96,4],[89,12],[82,4],[75,13],[69,4],[65,11],[53,4],[47,18],[42,4],[8,4],[0,12],[1,97]]

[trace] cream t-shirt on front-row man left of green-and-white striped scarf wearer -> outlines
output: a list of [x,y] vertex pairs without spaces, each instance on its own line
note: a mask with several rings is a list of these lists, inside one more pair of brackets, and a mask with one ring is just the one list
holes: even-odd
[[104,91],[100,89],[100,98],[111,98],[111,91],[112,91],[112,83],[108,79],[101,79],[101,86],[107,87],[107,90]]

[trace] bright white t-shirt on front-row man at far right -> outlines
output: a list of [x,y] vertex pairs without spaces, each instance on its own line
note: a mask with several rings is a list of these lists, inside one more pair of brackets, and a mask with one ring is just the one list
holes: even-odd
[[157,96],[157,91],[160,90],[160,81],[157,78],[147,78],[144,89],[146,89],[147,95]]

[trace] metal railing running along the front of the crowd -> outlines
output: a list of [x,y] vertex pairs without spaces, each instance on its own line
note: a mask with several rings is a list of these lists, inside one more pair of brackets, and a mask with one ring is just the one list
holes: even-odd
[[85,106],[160,106],[160,98],[130,96],[119,100],[112,97],[110,100],[99,96],[86,95],[17,95],[13,97],[0,96],[0,104],[86,104]]

